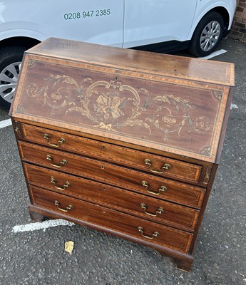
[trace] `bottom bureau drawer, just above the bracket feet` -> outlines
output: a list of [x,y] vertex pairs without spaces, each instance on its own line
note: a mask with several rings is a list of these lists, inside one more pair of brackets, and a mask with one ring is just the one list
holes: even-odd
[[[111,229],[136,239],[144,240],[163,247],[187,253],[193,234],[173,229],[145,219],[132,217],[113,209],[101,207],[56,192],[29,187],[34,205],[39,205],[53,212],[66,214],[68,217]],[[143,237],[145,236],[145,237]],[[155,237],[156,236],[156,237]]]

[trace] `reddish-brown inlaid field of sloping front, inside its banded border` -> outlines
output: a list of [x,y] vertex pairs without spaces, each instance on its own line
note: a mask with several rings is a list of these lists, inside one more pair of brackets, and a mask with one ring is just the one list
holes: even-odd
[[[23,87],[29,98],[25,112],[31,114],[35,109],[35,115],[45,113],[46,118],[58,122],[106,131],[110,136],[156,140],[160,145],[186,147],[210,157],[212,149],[205,146],[212,145],[213,124],[223,95],[220,90],[203,90],[204,100],[212,102],[205,105],[198,96],[201,91],[193,87],[87,70],[78,73],[76,68],[66,67],[63,73],[52,73],[39,64],[30,67],[33,80]],[[35,74],[38,67],[41,71]]]

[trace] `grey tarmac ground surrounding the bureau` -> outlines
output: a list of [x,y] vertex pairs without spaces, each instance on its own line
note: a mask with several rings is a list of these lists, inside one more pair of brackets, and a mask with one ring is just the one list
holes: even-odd
[[[176,269],[153,249],[78,225],[14,231],[33,222],[9,125],[0,128],[1,285],[246,285],[246,43],[228,37],[220,48],[227,52],[211,60],[235,63],[235,92],[192,271]],[[7,119],[0,106],[0,125]],[[64,251],[68,241],[71,254]]]

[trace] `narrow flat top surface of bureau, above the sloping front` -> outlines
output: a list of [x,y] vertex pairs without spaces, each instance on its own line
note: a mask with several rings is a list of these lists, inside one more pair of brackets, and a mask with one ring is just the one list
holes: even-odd
[[134,72],[234,86],[234,64],[49,38],[29,53]]

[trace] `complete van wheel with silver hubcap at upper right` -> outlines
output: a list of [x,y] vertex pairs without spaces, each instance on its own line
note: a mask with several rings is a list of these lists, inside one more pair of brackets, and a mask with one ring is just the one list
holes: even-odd
[[188,51],[194,56],[208,56],[219,45],[224,30],[222,16],[215,11],[209,12],[195,28]]

